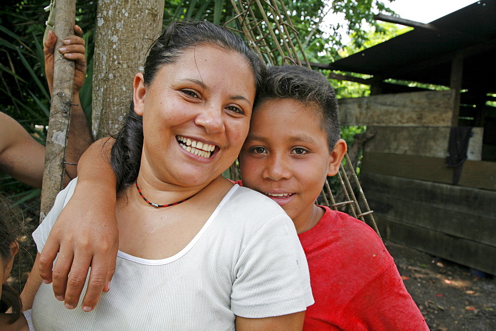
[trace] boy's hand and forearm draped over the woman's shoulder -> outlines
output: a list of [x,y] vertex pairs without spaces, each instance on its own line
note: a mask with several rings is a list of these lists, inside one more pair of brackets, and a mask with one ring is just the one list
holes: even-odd
[[[100,139],[77,166],[74,194],[62,210],[40,256],[40,276],[53,281],[55,296],[76,307],[91,267],[82,307],[93,310],[109,290],[116,267],[119,231],[116,221],[116,177],[109,163],[113,139]],[[64,252],[52,266],[57,253]]]

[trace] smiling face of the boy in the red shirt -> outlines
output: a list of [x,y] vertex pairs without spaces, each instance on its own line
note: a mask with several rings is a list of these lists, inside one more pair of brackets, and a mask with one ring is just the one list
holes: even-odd
[[277,202],[297,229],[314,216],[326,176],[339,168],[319,124],[313,108],[290,98],[270,99],[253,112],[240,154],[243,185]]

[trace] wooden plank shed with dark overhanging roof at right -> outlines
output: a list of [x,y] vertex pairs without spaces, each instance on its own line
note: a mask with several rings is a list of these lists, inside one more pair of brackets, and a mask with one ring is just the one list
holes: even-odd
[[[318,65],[372,75],[331,74],[371,85],[370,97],[342,99],[340,111],[342,125],[375,133],[361,182],[379,229],[388,240],[496,275],[496,0],[429,24],[389,20],[415,29]],[[468,159],[455,178],[446,166],[450,131],[465,126]]]

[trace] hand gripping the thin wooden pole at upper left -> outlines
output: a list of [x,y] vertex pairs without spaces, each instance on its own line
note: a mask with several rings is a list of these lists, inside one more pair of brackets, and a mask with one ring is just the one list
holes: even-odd
[[[86,76],[86,55],[85,55],[85,42],[81,38],[83,30],[74,25],[74,36],[69,36],[62,41],[62,47],[59,52],[69,60],[75,61],[74,69],[74,87],[72,94],[79,93],[83,86],[84,78]],[[45,74],[47,75],[48,87],[50,95],[52,95],[52,86],[54,82],[54,51],[55,44],[57,43],[57,36],[50,30],[43,45],[43,53],[45,54]]]

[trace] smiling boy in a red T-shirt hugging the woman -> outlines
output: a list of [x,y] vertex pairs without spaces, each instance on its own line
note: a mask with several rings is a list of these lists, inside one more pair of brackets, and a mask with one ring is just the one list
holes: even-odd
[[[299,233],[315,299],[304,329],[429,330],[375,232],[344,213],[314,205],[326,176],[338,172],[346,152],[339,132],[337,101],[323,75],[299,66],[269,68],[240,166],[244,186],[276,201]],[[115,199],[112,190],[107,201]],[[100,219],[91,221],[92,228],[107,227],[98,224]],[[51,280],[50,272],[44,279]],[[65,300],[70,292],[77,303],[81,288],[64,288]],[[87,296],[86,302],[96,304],[98,297]]]

